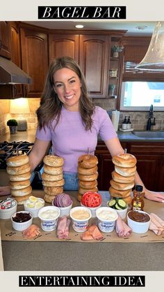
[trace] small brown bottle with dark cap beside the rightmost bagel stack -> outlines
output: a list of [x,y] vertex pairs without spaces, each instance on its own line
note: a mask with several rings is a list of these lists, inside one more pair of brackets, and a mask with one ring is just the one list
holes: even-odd
[[131,201],[131,210],[143,210],[144,208],[144,194],[142,185],[136,185],[133,190],[133,199]]

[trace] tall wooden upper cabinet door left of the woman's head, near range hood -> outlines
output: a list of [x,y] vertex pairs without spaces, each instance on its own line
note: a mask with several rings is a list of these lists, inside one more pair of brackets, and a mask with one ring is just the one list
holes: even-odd
[[48,68],[47,33],[33,29],[20,29],[22,70],[33,80],[26,85],[28,98],[40,98]]

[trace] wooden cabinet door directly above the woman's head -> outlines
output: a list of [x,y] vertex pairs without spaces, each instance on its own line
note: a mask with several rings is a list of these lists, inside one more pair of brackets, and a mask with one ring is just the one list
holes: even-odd
[[61,56],[71,56],[79,63],[79,35],[49,34],[49,63]]

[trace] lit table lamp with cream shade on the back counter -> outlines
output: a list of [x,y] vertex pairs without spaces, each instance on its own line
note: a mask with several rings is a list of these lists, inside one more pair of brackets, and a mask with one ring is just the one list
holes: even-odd
[[10,114],[19,114],[17,118],[17,131],[27,130],[27,121],[22,114],[29,113],[30,108],[27,98],[16,98],[15,100],[10,100]]

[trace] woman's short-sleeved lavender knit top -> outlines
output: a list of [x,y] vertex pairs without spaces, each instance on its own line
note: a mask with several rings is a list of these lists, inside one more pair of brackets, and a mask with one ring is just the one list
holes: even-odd
[[88,148],[94,155],[98,135],[103,141],[117,137],[106,110],[95,107],[92,120],[91,131],[86,131],[80,113],[69,112],[63,107],[58,125],[54,120],[49,128],[38,129],[36,138],[52,142],[52,153],[65,160],[63,171],[77,172],[79,156],[88,153]]

